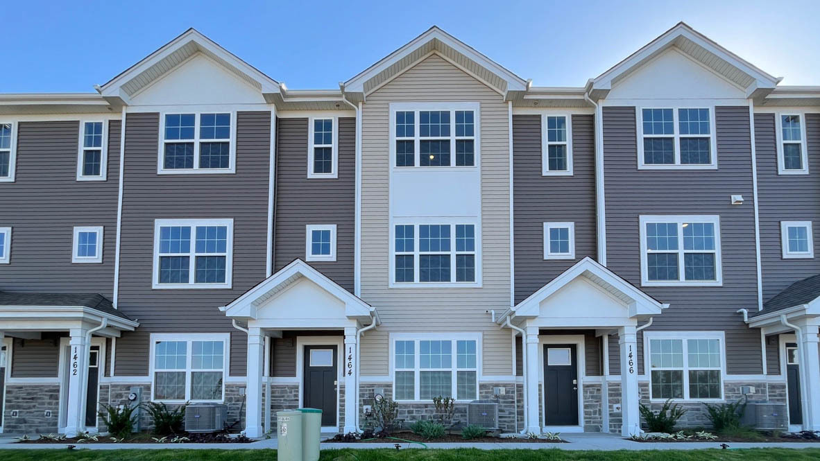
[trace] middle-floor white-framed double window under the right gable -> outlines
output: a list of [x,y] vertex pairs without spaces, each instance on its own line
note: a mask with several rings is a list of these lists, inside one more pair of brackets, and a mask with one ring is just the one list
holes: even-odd
[[645,287],[722,285],[717,215],[640,216],[640,253]]

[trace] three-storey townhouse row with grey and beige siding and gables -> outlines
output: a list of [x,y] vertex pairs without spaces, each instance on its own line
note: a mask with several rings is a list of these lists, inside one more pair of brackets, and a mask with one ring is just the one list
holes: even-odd
[[96,93],[0,94],[0,430],[156,401],[356,432],[378,395],[820,430],[820,87],[780,80],[681,23],[537,87],[432,27],[294,90],[189,29]]

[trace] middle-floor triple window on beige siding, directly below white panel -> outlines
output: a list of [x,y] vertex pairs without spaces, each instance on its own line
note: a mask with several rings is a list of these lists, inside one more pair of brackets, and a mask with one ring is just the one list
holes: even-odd
[[477,247],[475,224],[398,224],[394,282],[475,284]]

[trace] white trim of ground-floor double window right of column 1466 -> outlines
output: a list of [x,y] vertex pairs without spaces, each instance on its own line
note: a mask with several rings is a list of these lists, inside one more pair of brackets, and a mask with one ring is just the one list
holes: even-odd
[[[708,402],[708,403],[719,403],[726,399],[726,390],[724,386],[726,386],[726,379],[727,379],[727,365],[726,365],[726,334],[720,330],[713,331],[713,332],[657,332],[657,331],[646,331],[644,332],[644,373],[647,379],[649,380],[649,401],[652,403],[663,403],[666,399],[659,398],[653,399],[652,398],[652,369],[650,368],[650,361],[649,361],[649,340],[652,339],[679,339],[683,341],[683,368],[655,368],[655,369],[682,369],[683,370],[683,399],[675,399],[676,401],[682,402]],[[718,399],[691,399],[689,396],[689,345],[687,340],[690,339],[717,339],[718,341],[718,349],[720,350],[720,393],[721,396]],[[695,370],[706,370],[712,369],[717,370],[717,368],[694,368]]]

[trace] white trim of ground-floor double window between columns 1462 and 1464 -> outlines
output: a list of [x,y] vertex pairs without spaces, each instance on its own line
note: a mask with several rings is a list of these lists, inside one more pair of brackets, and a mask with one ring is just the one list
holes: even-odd
[[[152,402],[162,402],[166,404],[185,404],[186,402],[189,403],[221,403],[225,401],[225,382],[227,381],[228,374],[230,372],[230,333],[151,333],[151,346],[150,350],[148,351],[148,361],[150,362],[149,365],[149,373],[151,373],[151,401]],[[156,367],[156,349],[157,349],[157,342],[159,341],[185,341],[188,343],[187,349],[185,350],[185,369],[184,370],[176,370],[179,372],[185,372],[185,400],[157,400],[154,395],[157,392],[157,373]],[[194,349],[192,347],[193,341],[222,341],[222,398],[220,400],[190,400],[189,397],[191,395],[191,372],[194,371],[191,368],[191,361],[194,355]],[[210,369],[210,368],[209,368]],[[162,370],[161,370],[162,371]],[[207,370],[206,370],[207,371]]]

